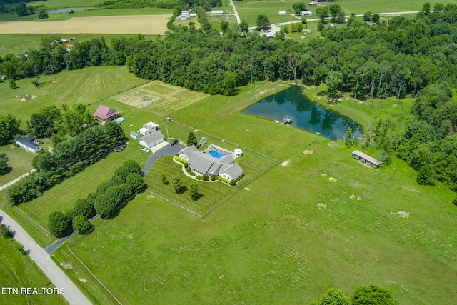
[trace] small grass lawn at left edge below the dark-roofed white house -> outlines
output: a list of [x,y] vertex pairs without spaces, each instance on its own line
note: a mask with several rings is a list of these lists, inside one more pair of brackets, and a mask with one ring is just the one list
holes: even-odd
[[0,186],[33,169],[31,160],[34,154],[13,144],[0,146],[0,156],[6,159],[9,167],[5,174],[0,175]]

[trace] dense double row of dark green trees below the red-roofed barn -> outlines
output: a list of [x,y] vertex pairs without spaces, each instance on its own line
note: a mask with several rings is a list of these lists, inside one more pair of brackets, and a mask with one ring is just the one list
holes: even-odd
[[9,187],[9,202],[20,204],[41,196],[46,189],[99,161],[125,141],[126,136],[121,126],[109,121],[104,125],[89,127],[74,138],[57,143],[52,151],[34,157],[34,173]]

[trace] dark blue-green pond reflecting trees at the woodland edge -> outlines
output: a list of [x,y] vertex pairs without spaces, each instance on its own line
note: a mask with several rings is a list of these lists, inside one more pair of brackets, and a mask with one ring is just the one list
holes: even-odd
[[363,133],[362,126],[348,117],[307,99],[299,86],[291,86],[268,96],[242,113],[280,122],[288,116],[293,119],[291,126],[320,134],[332,141],[344,139],[348,127],[351,127],[355,139]]

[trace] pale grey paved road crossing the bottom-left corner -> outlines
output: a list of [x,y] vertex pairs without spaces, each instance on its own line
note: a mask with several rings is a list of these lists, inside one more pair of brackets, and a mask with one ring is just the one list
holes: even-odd
[[51,259],[49,254],[40,248],[27,232],[8,214],[0,209],[1,223],[6,224],[13,231],[14,239],[24,245],[24,249],[29,252],[31,259],[46,274],[52,284],[58,288],[64,288],[62,295],[70,305],[90,305],[91,302],[81,293],[76,285],[64,274],[59,266]]

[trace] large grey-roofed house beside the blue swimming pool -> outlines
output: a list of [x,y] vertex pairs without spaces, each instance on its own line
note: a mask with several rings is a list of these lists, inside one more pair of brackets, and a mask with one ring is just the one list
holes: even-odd
[[178,154],[189,164],[191,171],[196,175],[221,176],[225,179],[236,180],[243,174],[243,169],[229,154],[216,159],[214,156],[204,154],[195,145],[186,147]]

